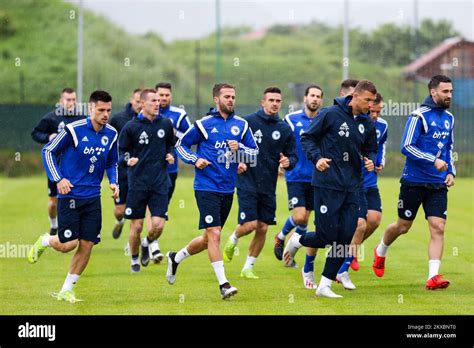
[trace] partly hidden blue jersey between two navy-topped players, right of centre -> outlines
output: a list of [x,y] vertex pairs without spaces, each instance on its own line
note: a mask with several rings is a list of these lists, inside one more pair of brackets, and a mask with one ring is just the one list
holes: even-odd
[[298,154],[298,162],[293,170],[285,171],[286,182],[306,182],[311,183],[314,164],[308,160],[301,146],[301,134],[309,127],[314,118],[308,117],[304,109],[292,112],[285,116],[285,121],[293,130]]

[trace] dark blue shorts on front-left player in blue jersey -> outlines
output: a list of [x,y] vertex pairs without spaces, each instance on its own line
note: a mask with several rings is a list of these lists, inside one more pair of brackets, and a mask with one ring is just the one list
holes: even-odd
[[61,243],[82,239],[97,244],[101,228],[100,197],[58,199],[58,236]]

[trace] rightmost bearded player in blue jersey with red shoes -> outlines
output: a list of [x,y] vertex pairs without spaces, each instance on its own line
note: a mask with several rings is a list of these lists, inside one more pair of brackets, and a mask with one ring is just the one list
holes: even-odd
[[372,268],[378,277],[385,272],[385,258],[389,246],[407,233],[415,220],[420,205],[430,230],[428,245],[429,290],[444,289],[449,281],[439,274],[444,246],[444,229],[448,213],[448,188],[454,185],[454,116],[448,111],[453,96],[449,77],[435,75],[428,83],[430,95],[421,107],[408,117],[401,142],[406,156],[400,179],[398,220],[390,224],[374,249]]

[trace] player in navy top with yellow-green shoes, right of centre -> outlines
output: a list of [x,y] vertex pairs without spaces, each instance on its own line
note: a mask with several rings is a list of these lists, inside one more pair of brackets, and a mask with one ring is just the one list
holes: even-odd
[[230,262],[239,238],[253,231],[249,252],[240,276],[258,279],[253,266],[263,249],[269,225],[276,224],[276,184],[278,167],[292,170],[298,161],[295,138],[290,126],[280,119],[281,90],[268,87],[261,109],[245,117],[258,143],[256,165],[239,164],[237,197],[238,225],[224,247],[224,261]]

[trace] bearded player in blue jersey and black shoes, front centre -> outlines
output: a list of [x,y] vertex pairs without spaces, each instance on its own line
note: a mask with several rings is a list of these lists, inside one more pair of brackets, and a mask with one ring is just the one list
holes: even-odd
[[[178,156],[195,166],[199,229],[204,229],[204,233],[178,252],[168,252],[166,278],[169,284],[174,284],[178,265],[207,249],[221,298],[227,299],[235,295],[237,289],[230,285],[224,272],[219,248],[221,231],[232,207],[238,163],[244,159],[251,162],[258,153],[258,146],[247,121],[234,114],[234,86],[216,84],[212,95],[216,108],[194,122],[176,143]],[[193,145],[197,145],[196,152],[191,151]]]

